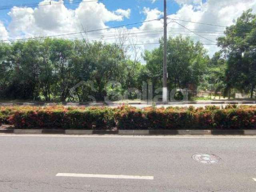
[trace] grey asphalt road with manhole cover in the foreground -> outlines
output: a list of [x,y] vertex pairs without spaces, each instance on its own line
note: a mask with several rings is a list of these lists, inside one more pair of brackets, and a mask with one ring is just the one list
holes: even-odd
[[256,192],[256,137],[0,135],[0,155],[1,192]]

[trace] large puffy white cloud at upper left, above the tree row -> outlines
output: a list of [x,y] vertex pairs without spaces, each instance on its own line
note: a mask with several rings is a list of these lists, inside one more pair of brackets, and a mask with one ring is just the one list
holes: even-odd
[[[48,0],[40,2],[44,4]],[[47,6],[38,8],[13,8],[8,15],[11,22],[8,26],[15,38],[38,35],[54,35],[82,30],[107,28],[109,21],[122,21],[130,16],[130,9],[109,11],[99,2],[80,3],[75,10],[68,9],[63,1],[52,1]],[[62,4],[59,4],[62,2]]]

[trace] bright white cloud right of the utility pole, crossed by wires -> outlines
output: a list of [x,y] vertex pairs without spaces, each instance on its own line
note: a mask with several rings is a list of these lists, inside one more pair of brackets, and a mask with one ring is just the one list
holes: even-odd
[[[181,2],[182,0],[179,1]],[[183,2],[188,1],[189,0],[183,0]],[[238,18],[243,11],[248,10],[249,8],[253,8],[254,12],[256,11],[256,0],[224,0],[218,1],[218,3],[216,3],[216,0],[208,0],[206,3],[201,4],[200,6],[184,4],[176,14],[170,15],[169,18],[229,26],[233,24],[234,19]],[[220,33],[225,30],[225,28],[217,26],[201,25],[181,21],[177,22],[192,30],[208,31],[204,33],[198,33],[215,42],[219,36],[223,35]],[[171,23],[169,27],[170,26],[175,28],[182,28],[175,23]],[[211,34],[210,32],[216,33]],[[200,40],[201,42],[207,44],[212,43],[199,36],[196,36],[195,34],[190,34],[194,40]],[[219,50],[217,46],[206,45],[205,47],[209,50],[210,55],[213,55],[214,52]]]

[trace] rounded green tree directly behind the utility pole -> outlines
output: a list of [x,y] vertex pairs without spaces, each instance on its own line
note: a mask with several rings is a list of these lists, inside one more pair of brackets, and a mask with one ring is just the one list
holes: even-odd
[[[159,48],[145,51],[144,60],[153,86],[162,84],[163,42]],[[168,88],[196,89],[206,72],[209,56],[199,42],[189,37],[169,37],[167,49]]]

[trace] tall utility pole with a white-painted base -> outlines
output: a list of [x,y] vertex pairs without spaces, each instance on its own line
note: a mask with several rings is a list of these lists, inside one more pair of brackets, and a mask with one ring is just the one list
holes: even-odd
[[166,0],[164,0],[163,102],[167,102],[167,11],[166,11]]

